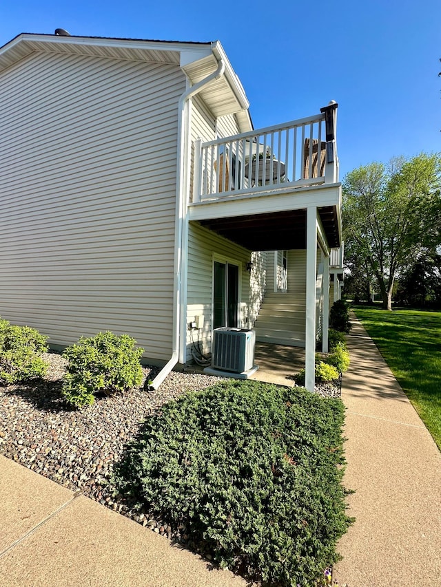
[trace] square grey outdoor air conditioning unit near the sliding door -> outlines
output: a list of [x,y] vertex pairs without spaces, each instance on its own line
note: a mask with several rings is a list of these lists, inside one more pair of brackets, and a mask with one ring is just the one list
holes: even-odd
[[247,328],[213,330],[212,368],[243,373],[254,367],[256,332]]

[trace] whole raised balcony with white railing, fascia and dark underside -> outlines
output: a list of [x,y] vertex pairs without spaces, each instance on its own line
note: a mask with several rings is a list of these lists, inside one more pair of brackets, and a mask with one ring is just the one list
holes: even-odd
[[340,246],[336,103],[283,125],[195,143],[189,221],[249,250],[307,246],[315,208],[327,246]]

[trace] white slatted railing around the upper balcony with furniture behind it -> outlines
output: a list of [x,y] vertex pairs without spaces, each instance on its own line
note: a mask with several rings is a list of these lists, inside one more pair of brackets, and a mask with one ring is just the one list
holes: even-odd
[[335,110],[196,141],[193,202],[338,181]]

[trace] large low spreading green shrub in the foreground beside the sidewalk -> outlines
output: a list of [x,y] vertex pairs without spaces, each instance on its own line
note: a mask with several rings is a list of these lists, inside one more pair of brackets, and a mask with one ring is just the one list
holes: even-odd
[[310,586],[345,533],[340,400],[234,381],[148,418],[116,483],[215,562],[278,586]]

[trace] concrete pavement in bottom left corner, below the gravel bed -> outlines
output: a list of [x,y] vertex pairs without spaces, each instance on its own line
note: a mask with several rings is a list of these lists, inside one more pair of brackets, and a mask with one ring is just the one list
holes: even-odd
[[240,587],[246,581],[0,456],[0,585]]

